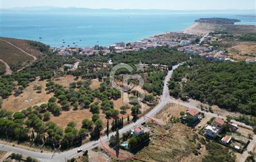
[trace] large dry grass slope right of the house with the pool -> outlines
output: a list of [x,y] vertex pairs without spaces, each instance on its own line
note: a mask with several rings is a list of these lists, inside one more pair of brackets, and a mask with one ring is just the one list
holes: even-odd
[[194,155],[198,142],[192,142],[193,135],[190,127],[180,123],[174,124],[164,133],[159,128],[154,128],[149,146],[136,156],[141,156],[141,161],[202,161],[205,148],[198,150],[200,155]]

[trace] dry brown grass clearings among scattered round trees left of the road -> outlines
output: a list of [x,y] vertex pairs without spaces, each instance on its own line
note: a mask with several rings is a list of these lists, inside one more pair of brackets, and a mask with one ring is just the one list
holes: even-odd
[[[75,81],[74,78],[75,77],[72,75],[66,75],[66,76],[61,76],[59,79],[53,80],[53,81],[56,84],[61,84],[62,86],[64,86],[64,88],[69,88],[69,84]],[[46,83],[47,81],[39,81],[39,78],[37,78],[36,81],[33,81],[32,83],[30,83],[29,86],[27,86],[27,88],[25,88],[23,93],[20,94],[19,96],[14,96],[14,94],[12,94],[7,99],[3,99],[2,109],[6,109],[11,112],[17,112],[17,111],[26,109],[27,107],[36,106],[36,105],[40,106],[41,104],[47,103],[49,98],[54,96],[54,94],[46,93],[45,91]],[[92,80],[90,87],[91,89],[96,89],[96,88],[99,88],[100,84],[101,82],[94,79]],[[42,87],[41,93],[38,93],[36,90],[34,90],[35,86]],[[124,102],[124,96],[126,95],[127,93],[125,93],[125,95],[122,94],[120,99],[112,100],[114,102],[114,109],[117,109],[119,110],[119,112],[121,112],[120,107],[123,105],[132,107],[132,105],[130,105],[129,103]],[[97,98],[95,99],[94,102],[96,101],[99,102],[99,106],[101,106],[101,101]],[[149,106],[143,103],[141,104],[141,106],[142,106],[142,109],[141,109],[142,112],[150,108]],[[128,114],[129,115],[131,114],[130,109],[128,109],[126,111],[126,114],[124,115],[119,114],[119,117],[120,118],[123,117],[126,123]],[[105,116],[106,115],[101,110],[100,119],[104,122],[104,126],[106,126],[107,124],[107,119]],[[84,119],[91,120],[91,118],[92,118],[92,113],[90,112],[90,109],[81,109],[79,107],[79,109],[73,110],[71,107],[69,111],[61,111],[61,114],[59,116],[51,115],[50,120],[52,122],[55,122],[57,125],[59,125],[62,128],[65,128],[69,122],[74,121],[77,124],[76,128],[79,129],[82,126],[82,120]],[[132,119],[131,115],[130,115],[130,119]],[[110,122],[112,122],[112,119],[110,120]]]

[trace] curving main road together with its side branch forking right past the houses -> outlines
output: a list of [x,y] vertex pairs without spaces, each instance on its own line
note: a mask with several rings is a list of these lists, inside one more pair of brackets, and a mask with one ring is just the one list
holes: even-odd
[[[168,89],[167,85],[168,85],[168,81],[169,81],[170,77],[172,76],[173,70],[175,70],[178,66],[179,65],[173,66],[172,70],[168,71],[168,74],[165,77],[164,90],[163,90],[163,94],[161,96],[160,103],[157,106],[155,106],[154,109],[150,110],[150,112],[145,114],[145,117],[141,117],[135,123],[131,123],[129,125],[124,126],[124,128],[119,130],[120,134],[125,133],[128,130],[131,130],[132,128],[140,125],[142,122],[147,122],[147,120],[149,120],[150,117],[154,117],[160,110],[162,110],[166,104],[170,104],[170,103],[179,104],[181,106],[184,106],[184,107],[187,107],[187,108],[192,108],[192,109],[197,109],[200,112],[202,112],[202,110],[200,110],[199,108],[197,108],[195,106],[192,106],[192,104],[185,103],[185,102],[180,102],[178,100],[170,98],[169,89]],[[205,115],[209,115],[210,117],[220,117],[222,119],[225,119],[225,117],[222,117],[220,115],[218,116],[217,114],[214,114],[214,113],[211,113],[211,112],[204,112],[204,113],[205,113]],[[248,125],[245,125],[244,123],[241,123],[241,122],[237,122],[237,121],[232,121],[232,122],[235,122],[236,124],[242,125],[243,127],[247,127],[247,128],[250,128],[250,129],[252,128],[252,127],[250,127]],[[114,134],[115,134],[115,132],[110,133],[109,137],[111,135],[114,135]],[[253,150],[254,145],[256,143],[255,139],[256,138],[255,138],[255,135],[254,135],[254,140],[252,140],[252,142],[250,142],[249,148],[247,148],[247,151],[245,151],[243,155],[248,156],[248,151]],[[89,150],[91,148],[94,148],[96,146],[101,145],[101,142],[106,143],[108,140],[109,139],[107,138],[107,136],[104,135],[104,136],[101,137],[101,140],[85,143],[84,145],[80,146],[79,148],[81,148],[82,150]],[[26,155],[26,156],[32,156],[34,158],[37,158],[39,161],[45,161],[45,162],[48,162],[48,161],[62,162],[62,161],[66,161],[67,159],[73,158],[74,156],[81,155],[82,153],[77,153],[77,149],[79,149],[79,148],[73,148],[71,150],[64,151],[62,153],[49,154],[49,153],[39,153],[39,152],[35,152],[35,151],[24,150],[22,148],[16,148],[14,146],[0,144],[0,150],[11,151],[11,152],[14,152],[14,153],[20,153],[20,154]],[[246,159],[246,157],[245,157],[245,159]],[[242,161],[244,161],[244,160],[242,160]]]

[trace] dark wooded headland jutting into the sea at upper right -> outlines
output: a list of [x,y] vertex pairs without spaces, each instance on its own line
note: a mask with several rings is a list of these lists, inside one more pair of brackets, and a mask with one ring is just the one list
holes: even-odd
[[232,25],[232,24],[235,24],[235,22],[240,22],[240,20],[214,17],[214,18],[202,18],[199,20],[195,20],[195,22]]

